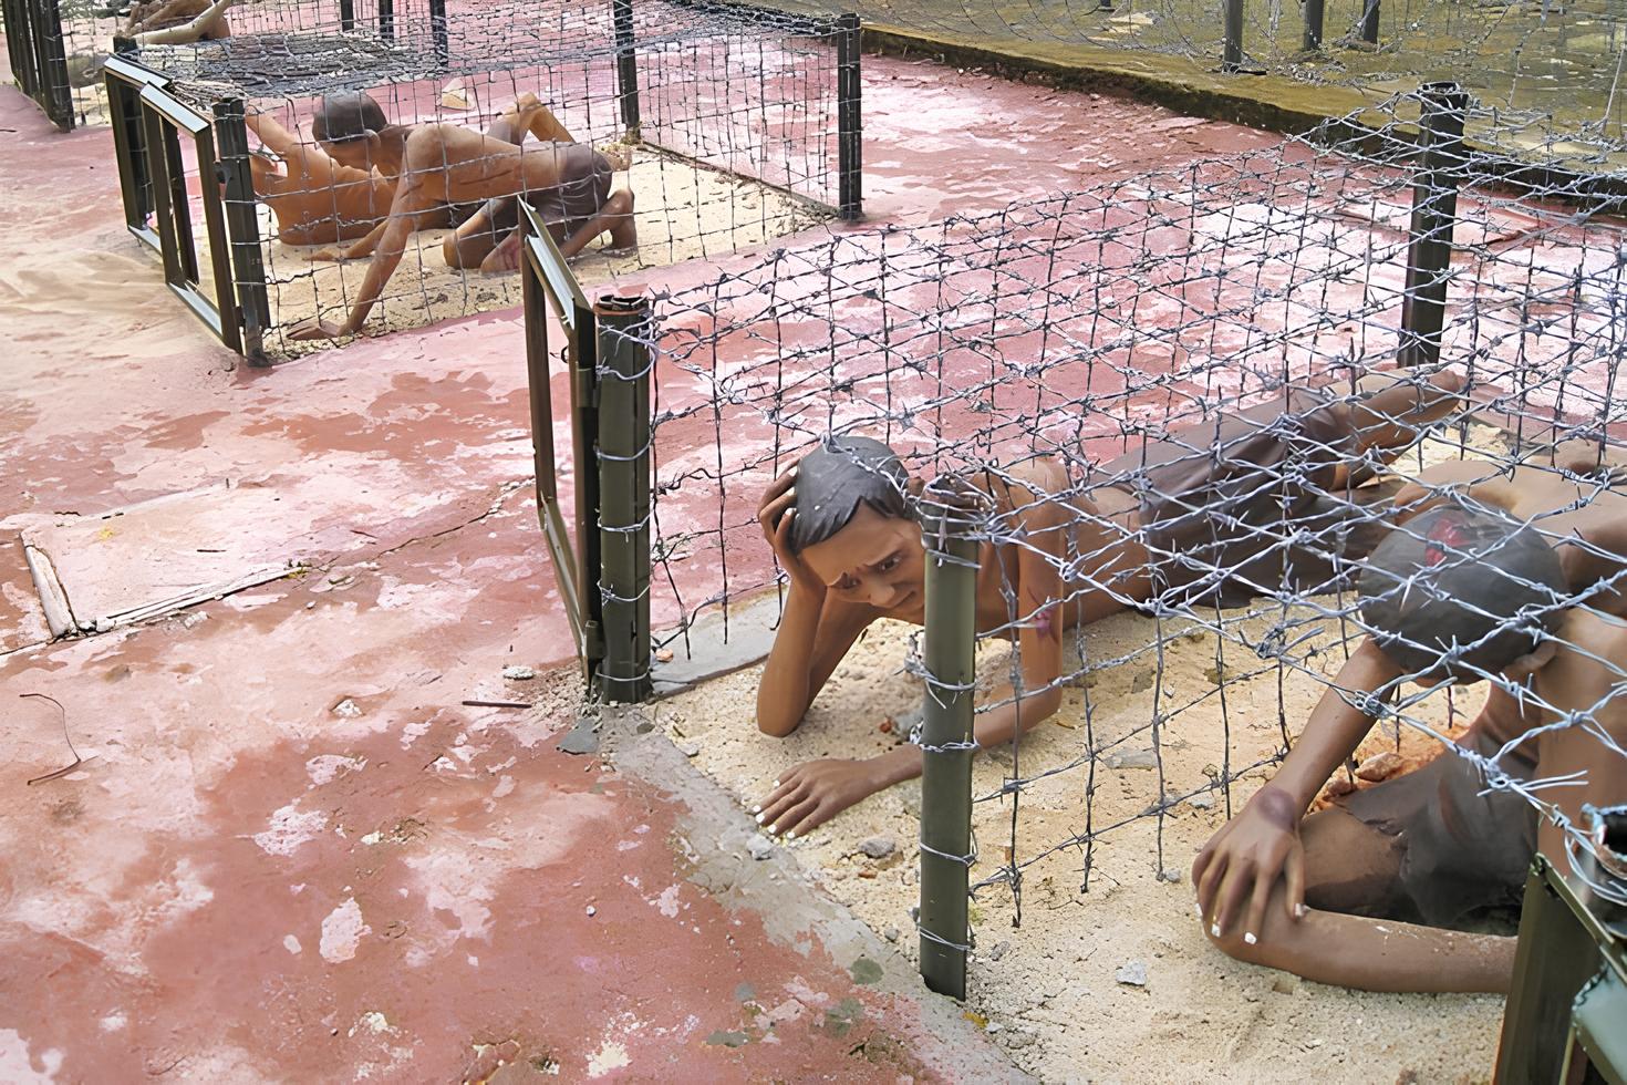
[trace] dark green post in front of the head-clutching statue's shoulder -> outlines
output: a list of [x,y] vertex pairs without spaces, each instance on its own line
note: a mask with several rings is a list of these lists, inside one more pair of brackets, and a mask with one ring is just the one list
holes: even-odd
[[[945,495],[947,496],[947,495]],[[921,978],[966,997],[971,854],[971,708],[978,646],[973,514],[923,499],[926,699],[921,717]]]

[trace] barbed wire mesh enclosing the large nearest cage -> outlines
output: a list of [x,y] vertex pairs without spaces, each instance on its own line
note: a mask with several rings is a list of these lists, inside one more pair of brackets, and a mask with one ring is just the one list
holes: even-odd
[[[1422,98],[1461,122],[1466,104],[1450,88]],[[1012,641],[1051,618],[1019,607],[1009,576],[1005,618],[984,621],[975,643],[965,621],[929,620],[909,664],[929,691],[927,729],[914,735],[929,774],[934,760],[970,761],[973,701],[983,716],[1019,693],[1061,693],[1054,721],[1069,737],[1066,755],[1048,743],[1045,761],[1017,742],[992,752],[997,779],[979,769],[970,823],[934,820],[955,804],[926,782],[924,970],[963,968],[966,888],[1007,895],[1020,922],[1036,874],[1087,891],[1100,849],[1142,826],[1154,869],[1173,877],[1167,820],[1183,804],[1235,812],[1237,787],[1246,795],[1269,774],[1365,634],[1350,574],[1396,521],[1398,488],[1468,464],[1575,483],[1578,508],[1611,499],[1573,452],[1555,460],[1552,449],[1581,441],[1611,460],[1627,433],[1616,392],[1627,231],[1590,202],[1588,179],[1500,185],[1453,124],[1425,124],[1433,135],[1420,151],[1417,107],[1389,102],[1393,120],[1354,140],[1329,125],[994,213],[833,236],[654,299],[651,602],[654,626],[669,630],[657,646],[680,649],[711,613],[729,636],[731,610],[776,586],[758,499],[802,454],[848,433],[887,442],[919,480],[1033,495],[975,516],[960,550],[932,542],[924,506],[929,551],[947,555],[929,577],[952,579],[945,571],[979,548],[1038,556],[1062,586],[1053,602],[1064,613],[1108,599],[1144,615],[1144,636],[1119,630],[1111,651],[1071,621],[1067,662],[1040,686],[1025,682]],[[1297,418],[1368,410],[1375,381],[1407,387],[1442,366],[1463,382],[1459,408],[1412,423],[1415,439],[1391,462],[1349,433],[1295,436]],[[1168,490],[1183,470],[1246,459],[1214,438],[1217,420],[1238,413],[1287,415],[1256,423],[1287,449],[1280,459],[1240,481]],[[1380,413],[1367,425],[1394,423]],[[1066,481],[1036,483],[1041,465]],[[1066,543],[1040,545],[1023,527],[1030,504],[1069,509]],[[1155,508],[1162,521],[1147,519]],[[1108,555],[1136,568],[1126,553],[1144,553],[1171,587],[1103,571]],[[968,599],[937,613],[971,615]],[[1585,605],[1555,600],[1568,604]],[[932,638],[957,630],[950,659]],[[1616,662],[1601,665],[1620,678]],[[1399,698],[1381,712],[1386,742],[1401,750],[1402,735],[1420,735],[1402,761],[1427,758],[1472,717],[1476,696]],[[949,709],[958,722],[934,734],[934,714],[942,726]],[[1607,699],[1562,717],[1614,758],[1622,752],[1594,719],[1606,711]],[[1521,781],[1495,748],[1450,753],[1552,817],[1552,781]],[[1152,782],[1131,799],[1103,795],[1123,768],[1147,768]],[[1350,786],[1365,781],[1347,773],[1334,792]],[[934,867],[960,878],[958,901],[942,880],[926,891]]]

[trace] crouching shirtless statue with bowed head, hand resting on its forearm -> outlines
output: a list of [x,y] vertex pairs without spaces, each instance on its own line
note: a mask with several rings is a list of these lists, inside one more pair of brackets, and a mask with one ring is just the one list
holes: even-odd
[[[1594,459],[1596,465],[1596,459]],[[1559,464],[1590,468],[1585,460]],[[1538,848],[1568,870],[1564,831],[1453,750],[1305,817],[1375,722],[1375,698],[1498,675],[1458,747],[1572,825],[1627,799],[1627,495],[1609,478],[1453,462],[1399,496],[1412,516],[1362,574],[1373,630],[1323,695],[1277,774],[1193,865],[1209,937],[1238,960],[1370,991],[1505,992],[1515,939],[1450,930],[1518,906]],[[1419,509],[1429,509],[1419,512]],[[1521,690],[1513,696],[1511,690]]]

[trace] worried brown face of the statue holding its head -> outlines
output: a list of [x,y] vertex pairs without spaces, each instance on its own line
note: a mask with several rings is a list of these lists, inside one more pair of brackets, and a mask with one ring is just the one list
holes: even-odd
[[903,613],[924,602],[926,548],[914,521],[861,504],[846,527],[800,558],[838,599]]

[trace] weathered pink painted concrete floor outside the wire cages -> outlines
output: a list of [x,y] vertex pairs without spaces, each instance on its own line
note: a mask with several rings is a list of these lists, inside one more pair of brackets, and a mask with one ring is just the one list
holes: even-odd
[[[1276,142],[921,63],[866,78],[877,221]],[[124,233],[106,129],[0,91],[0,1082],[968,1065],[911,996],[691,882],[667,789],[555,752],[576,683],[542,670],[569,638],[517,314],[234,369]],[[47,644],[21,535],[72,548],[70,602],[195,584],[210,553],[298,569]],[[63,706],[78,771],[26,782],[72,761],[28,693]]]

